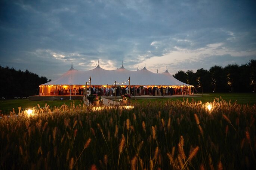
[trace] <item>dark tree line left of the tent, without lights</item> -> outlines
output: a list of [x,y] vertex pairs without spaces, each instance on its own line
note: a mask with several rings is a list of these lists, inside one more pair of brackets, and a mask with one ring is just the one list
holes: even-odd
[[0,65],[0,97],[13,99],[13,97],[28,97],[38,95],[39,85],[47,83],[48,78],[39,77],[30,71],[15,70]]

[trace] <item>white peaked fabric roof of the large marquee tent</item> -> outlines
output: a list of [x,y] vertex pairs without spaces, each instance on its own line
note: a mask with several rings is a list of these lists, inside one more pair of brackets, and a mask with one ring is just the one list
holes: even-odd
[[[130,77],[130,85],[135,86],[191,86],[183,83],[174,78],[167,70],[164,73],[152,73],[147,70],[146,67],[137,71],[130,71],[122,67],[117,70],[105,70],[99,65],[93,70],[89,71],[78,71],[72,67],[65,74],[55,81],[50,81],[44,85],[85,85],[86,81],[89,81],[89,77],[92,78],[92,85],[112,85],[117,82],[124,82]],[[119,84],[118,84],[119,85]],[[122,85],[122,84],[120,84]],[[127,81],[126,84],[129,85]]]

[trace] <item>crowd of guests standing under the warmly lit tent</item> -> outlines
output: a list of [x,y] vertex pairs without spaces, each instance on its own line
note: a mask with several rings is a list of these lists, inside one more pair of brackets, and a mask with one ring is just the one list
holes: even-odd
[[[58,94],[60,96],[62,95],[83,95],[85,88],[74,88],[73,90],[65,89],[63,87],[59,87],[58,91],[55,92],[55,94]],[[92,86],[91,94],[98,94],[101,96],[120,96],[121,94],[129,94],[129,87],[121,87],[121,86],[112,86],[112,87],[95,87]],[[89,87],[87,88],[87,92],[89,92]],[[152,96],[166,96],[166,95],[175,95],[175,94],[184,94],[189,95],[191,94],[191,88],[190,87],[144,87],[144,86],[132,86],[130,87],[130,93],[132,96],[141,96],[141,95],[152,95]]]

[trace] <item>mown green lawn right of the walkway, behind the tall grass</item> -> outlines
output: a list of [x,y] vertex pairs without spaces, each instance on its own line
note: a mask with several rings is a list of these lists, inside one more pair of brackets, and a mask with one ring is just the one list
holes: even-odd
[[[203,97],[187,97],[189,102],[191,102],[192,99],[194,101],[201,100],[203,103],[205,102],[213,102],[213,100],[216,98],[222,97],[223,100],[226,100],[226,102],[229,102],[231,100],[231,103],[234,103],[237,101],[238,104],[256,104],[256,93],[207,93],[204,94]],[[166,101],[166,100],[183,100],[183,97],[179,98],[165,98],[165,99],[135,99],[131,100],[132,103],[134,102],[150,102],[150,101]],[[185,97],[186,100],[186,97]]]

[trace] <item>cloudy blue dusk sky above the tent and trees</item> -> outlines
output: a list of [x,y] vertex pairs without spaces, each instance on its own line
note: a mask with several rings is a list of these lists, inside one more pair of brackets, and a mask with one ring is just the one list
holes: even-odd
[[255,0],[0,0],[0,65],[154,73],[256,59]]

